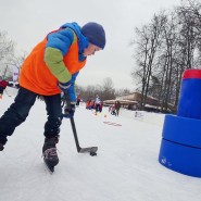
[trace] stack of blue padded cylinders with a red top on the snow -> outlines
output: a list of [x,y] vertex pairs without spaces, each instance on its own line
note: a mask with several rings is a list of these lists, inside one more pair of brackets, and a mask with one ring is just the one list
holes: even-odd
[[201,70],[183,74],[177,115],[165,115],[159,162],[201,177]]

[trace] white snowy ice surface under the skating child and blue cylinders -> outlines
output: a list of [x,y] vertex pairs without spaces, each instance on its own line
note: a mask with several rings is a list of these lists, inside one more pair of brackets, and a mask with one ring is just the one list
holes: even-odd
[[[4,93],[0,115],[13,99]],[[80,105],[75,113],[79,143],[98,146],[98,155],[76,152],[70,121],[63,120],[60,164],[52,175],[41,158],[46,120],[45,103],[37,100],[0,153],[0,201],[200,201],[200,178],[158,162],[164,115],[135,117],[121,110],[116,117],[106,108],[96,115]]]

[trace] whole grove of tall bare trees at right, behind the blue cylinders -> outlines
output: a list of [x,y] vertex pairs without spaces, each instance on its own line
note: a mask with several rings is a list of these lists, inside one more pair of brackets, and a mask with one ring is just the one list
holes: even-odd
[[183,72],[201,65],[201,3],[184,0],[136,30],[133,77],[142,93],[140,109],[149,95],[159,99],[162,111],[176,111]]

